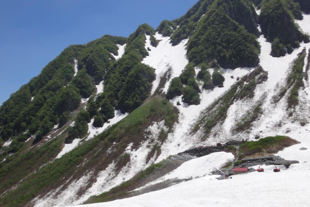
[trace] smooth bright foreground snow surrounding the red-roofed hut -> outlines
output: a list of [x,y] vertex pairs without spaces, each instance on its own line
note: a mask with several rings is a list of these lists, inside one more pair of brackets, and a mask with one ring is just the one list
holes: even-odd
[[[306,126],[310,129],[310,125]],[[77,205],[76,207],[109,207],[109,206],[309,206],[308,199],[310,180],[310,139],[309,131],[289,134],[295,137],[300,144],[290,146],[277,155],[288,160],[299,160],[300,164],[292,164],[289,169],[283,165],[281,172],[274,173],[273,166],[261,166],[265,172],[253,172],[232,176],[232,179],[217,180],[216,175],[203,176],[208,173],[212,161],[224,163],[230,158],[230,153],[216,152],[201,158],[190,160],[182,164],[174,173],[166,177],[184,178],[185,175],[202,176],[190,181],[143,195],[114,200],[106,203]],[[306,147],[308,150],[299,150]],[[208,158],[207,158],[208,157]],[[214,160],[212,160],[214,159]],[[205,161],[208,160],[208,164]],[[217,163],[218,162],[218,163]],[[215,165],[216,165],[215,164]],[[205,168],[200,166],[204,165]],[[217,165],[218,166],[218,165]],[[253,166],[255,169],[258,166]],[[182,171],[180,170],[182,168]],[[196,171],[197,169],[197,171]],[[201,169],[201,170],[200,170]],[[177,173],[176,173],[177,172]],[[171,177],[171,176],[170,176]],[[249,201],[249,202],[248,202]]]

